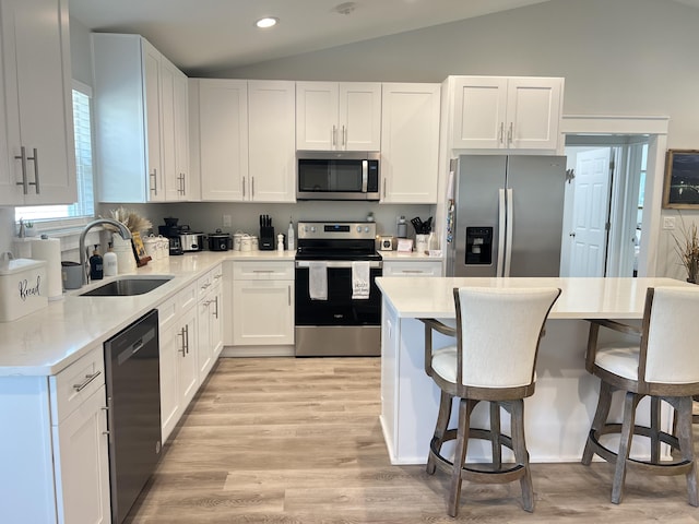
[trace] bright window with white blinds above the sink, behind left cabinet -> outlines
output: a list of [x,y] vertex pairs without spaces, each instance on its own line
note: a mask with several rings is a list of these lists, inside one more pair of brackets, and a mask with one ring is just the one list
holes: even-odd
[[70,227],[85,224],[95,215],[92,164],[92,90],[73,83],[73,127],[75,132],[75,168],[78,202],[72,205],[36,205],[16,207],[16,222],[38,223],[38,228]]

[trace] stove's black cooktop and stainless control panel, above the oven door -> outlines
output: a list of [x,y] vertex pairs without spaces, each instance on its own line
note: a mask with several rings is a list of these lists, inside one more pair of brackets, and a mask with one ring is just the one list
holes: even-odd
[[296,260],[381,260],[372,222],[299,222]]

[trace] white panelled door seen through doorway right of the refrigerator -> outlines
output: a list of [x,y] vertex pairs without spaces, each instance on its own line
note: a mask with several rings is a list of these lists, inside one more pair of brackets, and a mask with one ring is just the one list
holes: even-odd
[[611,148],[578,154],[569,276],[604,276],[609,209]]

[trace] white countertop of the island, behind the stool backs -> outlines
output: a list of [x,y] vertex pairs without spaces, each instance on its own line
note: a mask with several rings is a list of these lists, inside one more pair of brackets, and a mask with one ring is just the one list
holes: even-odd
[[559,287],[550,319],[640,319],[645,290],[660,286],[691,286],[673,278],[457,278],[380,277],[377,285],[402,318],[455,317],[453,288]]

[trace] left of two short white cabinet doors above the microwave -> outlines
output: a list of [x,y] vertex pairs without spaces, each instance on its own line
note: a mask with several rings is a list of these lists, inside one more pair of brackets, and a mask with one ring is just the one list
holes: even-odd
[[296,148],[332,151],[339,147],[335,82],[296,83]]

